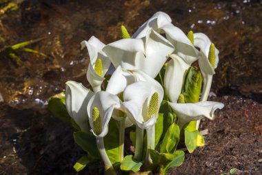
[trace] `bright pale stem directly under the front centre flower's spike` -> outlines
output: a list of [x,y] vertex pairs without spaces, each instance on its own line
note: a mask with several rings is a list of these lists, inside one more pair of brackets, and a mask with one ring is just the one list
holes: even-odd
[[145,165],[151,165],[152,159],[150,157],[150,149],[154,149],[154,136],[155,136],[155,127],[154,125],[149,129],[146,129],[147,134],[147,150],[145,156]]

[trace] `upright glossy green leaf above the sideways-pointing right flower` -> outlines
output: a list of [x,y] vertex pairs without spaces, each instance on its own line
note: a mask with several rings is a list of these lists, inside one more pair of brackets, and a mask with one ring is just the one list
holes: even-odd
[[202,76],[201,71],[194,66],[190,66],[184,75],[182,93],[185,98],[185,103],[199,102],[201,93]]

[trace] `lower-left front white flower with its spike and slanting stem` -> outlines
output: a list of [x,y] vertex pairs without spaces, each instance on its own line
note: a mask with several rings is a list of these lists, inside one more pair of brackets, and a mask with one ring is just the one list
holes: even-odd
[[[103,138],[108,133],[108,123],[111,117],[116,120],[125,118],[125,116],[123,116],[122,110],[124,111],[124,108],[121,105],[121,100],[117,97],[117,95],[112,95],[111,93],[105,91],[99,91],[94,94],[88,102],[87,107],[88,119],[91,127],[90,131],[96,137],[97,148],[99,149],[101,158],[105,163],[106,169],[110,168],[112,169],[112,171],[114,168],[112,167],[112,163],[110,162],[108,154],[105,151]],[[124,133],[124,127],[122,127],[121,129],[119,128],[119,132]],[[121,140],[122,141],[119,140],[119,144],[123,145],[123,138],[121,138]],[[122,153],[119,160],[123,159],[123,148],[121,150]],[[112,174],[115,174],[115,172],[113,172]]]

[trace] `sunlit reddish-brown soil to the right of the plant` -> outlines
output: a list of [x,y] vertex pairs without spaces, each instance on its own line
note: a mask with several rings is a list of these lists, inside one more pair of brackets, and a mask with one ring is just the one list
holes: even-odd
[[221,174],[232,168],[239,169],[238,174],[261,174],[262,105],[233,95],[210,100],[223,102],[225,108],[214,121],[201,123],[200,130],[208,129],[205,147],[187,154],[170,174]]

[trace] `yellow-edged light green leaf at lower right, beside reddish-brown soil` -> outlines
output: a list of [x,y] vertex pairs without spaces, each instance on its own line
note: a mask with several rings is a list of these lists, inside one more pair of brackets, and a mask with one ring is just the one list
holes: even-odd
[[185,130],[185,146],[190,153],[192,153],[196,147],[203,147],[204,145],[204,138],[198,130]]

